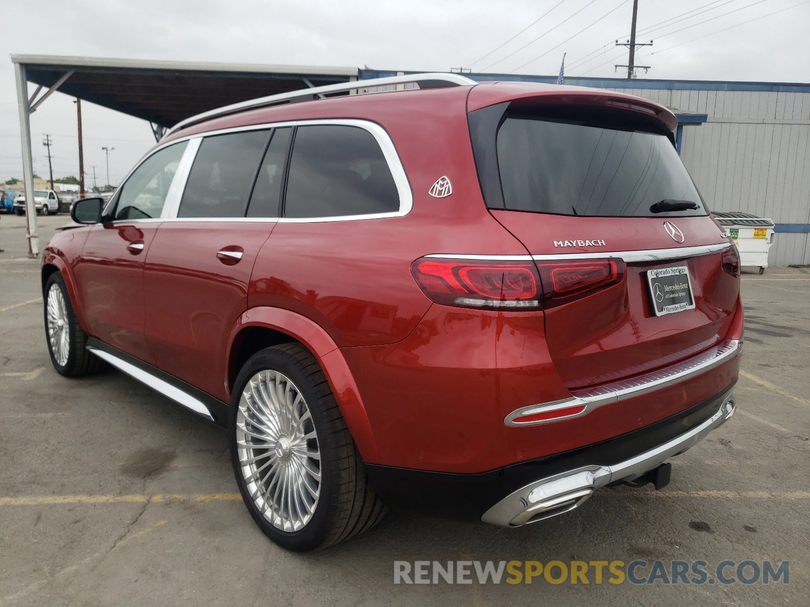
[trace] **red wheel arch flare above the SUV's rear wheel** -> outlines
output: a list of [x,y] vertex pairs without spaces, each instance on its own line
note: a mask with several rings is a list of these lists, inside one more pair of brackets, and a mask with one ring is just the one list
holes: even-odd
[[369,464],[377,463],[377,444],[352,371],[329,333],[306,316],[269,306],[244,312],[228,338],[224,367],[227,370],[226,392],[232,393],[239,369],[251,355],[266,347],[289,342],[300,343],[318,360],[360,456]]

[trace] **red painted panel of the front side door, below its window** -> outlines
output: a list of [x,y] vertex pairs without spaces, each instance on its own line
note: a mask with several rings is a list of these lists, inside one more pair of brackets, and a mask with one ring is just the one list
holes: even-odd
[[[155,364],[143,336],[143,264],[159,222],[99,223],[90,230],[75,265],[76,291],[87,333]],[[128,244],[143,242],[139,253]]]

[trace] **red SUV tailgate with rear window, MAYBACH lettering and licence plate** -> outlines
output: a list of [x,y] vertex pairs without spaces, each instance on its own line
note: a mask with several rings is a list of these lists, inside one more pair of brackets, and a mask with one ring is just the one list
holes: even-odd
[[687,358],[731,325],[735,250],[665,133],[604,108],[524,101],[501,117],[488,206],[535,258],[569,388]]

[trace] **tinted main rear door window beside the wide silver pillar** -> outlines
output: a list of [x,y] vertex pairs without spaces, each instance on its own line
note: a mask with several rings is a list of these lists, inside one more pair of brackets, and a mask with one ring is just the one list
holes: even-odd
[[177,217],[244,217],[270,130],[203,139]]

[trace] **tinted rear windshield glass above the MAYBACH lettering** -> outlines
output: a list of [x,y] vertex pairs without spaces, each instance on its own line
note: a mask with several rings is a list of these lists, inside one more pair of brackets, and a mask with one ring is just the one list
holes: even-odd
[[[684,217],[707,210],[663,135],[507,117],[497,134],[508,210],[603,217]],[[661,201],[697,210],[654,213]]]

